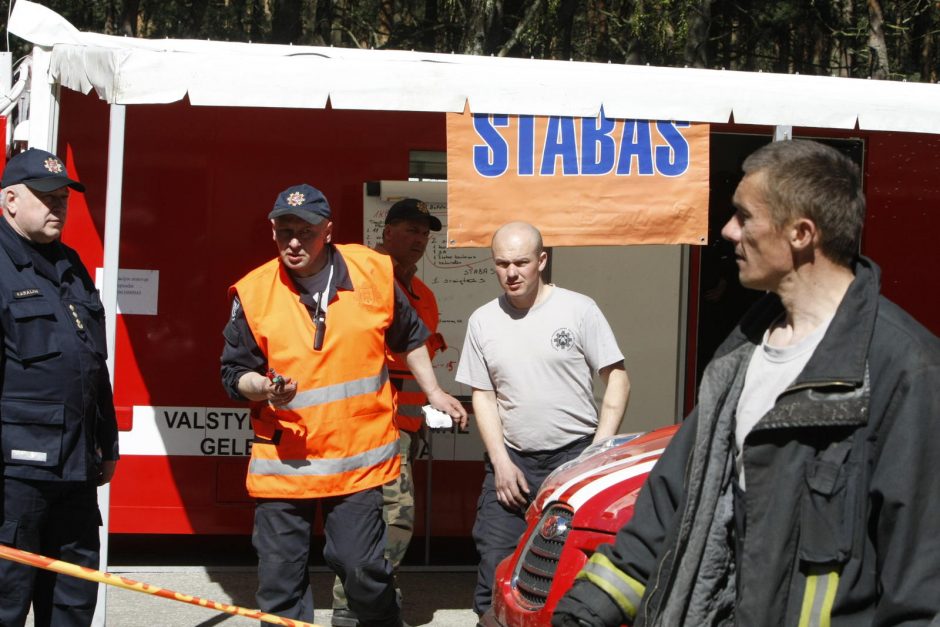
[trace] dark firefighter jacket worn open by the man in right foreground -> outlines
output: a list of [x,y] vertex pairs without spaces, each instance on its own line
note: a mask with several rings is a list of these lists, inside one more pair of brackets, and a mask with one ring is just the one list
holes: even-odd
[[[940,341],[879,285],[877,266],[860,259],[809,363],[744,441],[736,625],[797,625],[807,575],[820,569],[839,574],[833,627],[927,625],[940,613]],[[755,304],[706,369],[709,397],[737,402],[721,395],[730,369],[716,366],[749,355],[781,312],[774,295]],[[699,406],[686,419],[633,519],[599,549],[646,588],[635,625],[658,623],[666,599],[683,594],[673,584],[689,530],[678,521],[700,479],[688,460],[714,414]],[[619,614],[588,582],[571,594]]]

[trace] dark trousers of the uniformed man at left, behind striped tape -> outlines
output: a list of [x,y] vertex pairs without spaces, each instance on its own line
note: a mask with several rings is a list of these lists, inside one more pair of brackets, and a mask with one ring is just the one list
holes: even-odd
[[[0,543],[98,568],[98,495],[91,483],[3,478]],[[0,626],[91,624],[98,584],[0,558]]]

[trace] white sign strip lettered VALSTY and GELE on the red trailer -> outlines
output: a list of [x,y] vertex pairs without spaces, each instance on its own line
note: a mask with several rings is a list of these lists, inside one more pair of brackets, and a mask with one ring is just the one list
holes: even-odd
[[247,409],[135,405],[133,424],[120,433],[122,455],[251,454]]

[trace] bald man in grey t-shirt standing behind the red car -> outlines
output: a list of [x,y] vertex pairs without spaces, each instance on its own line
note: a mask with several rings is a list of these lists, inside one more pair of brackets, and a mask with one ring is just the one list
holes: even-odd
[[[525,532],[525,507],[552,470],[617,432],[630,394],[610,325],[593,300],[545,283],[548,254],[524,222],[493,235],[505,292],[470,317],[457,381],[473,389],[486,476],[473,537],[480,553],[474,610],[492,602],[496,565]],[[593,375],[606,389],[600,412]]]

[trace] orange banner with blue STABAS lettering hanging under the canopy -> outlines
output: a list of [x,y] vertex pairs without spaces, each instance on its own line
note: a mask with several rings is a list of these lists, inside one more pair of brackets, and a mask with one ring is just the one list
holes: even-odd
[[546,246],[705,244],[707,124],[447,114],[448,246],[513,220]]

